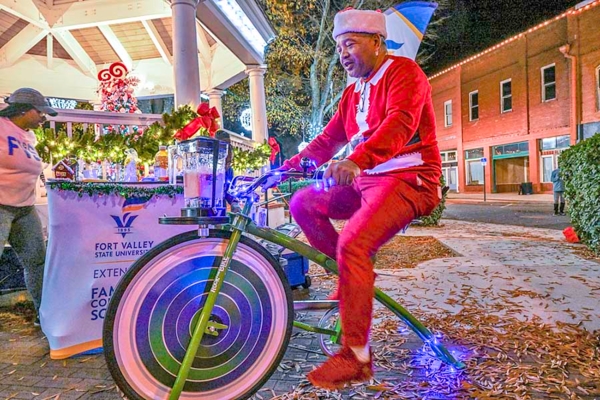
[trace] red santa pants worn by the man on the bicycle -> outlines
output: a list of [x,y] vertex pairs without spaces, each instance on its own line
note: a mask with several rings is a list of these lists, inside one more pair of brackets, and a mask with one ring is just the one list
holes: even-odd
[[[430,180],[432,181],[432,180]],[[329,191],[297,192],[290,209],[310,244],[337,261],[344,344],[369,341],[375,274],[371,257],[414,218],[438,204],[438,187],[415,173],[360,176]],[[330,219],[348,220],[338,234]]]

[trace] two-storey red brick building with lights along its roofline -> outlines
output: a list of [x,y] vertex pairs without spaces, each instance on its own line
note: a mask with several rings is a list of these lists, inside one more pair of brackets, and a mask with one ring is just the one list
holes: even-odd
[[599,26],[584,1],[430,77],[451,189],[552,190],[560,152],[600,132]]

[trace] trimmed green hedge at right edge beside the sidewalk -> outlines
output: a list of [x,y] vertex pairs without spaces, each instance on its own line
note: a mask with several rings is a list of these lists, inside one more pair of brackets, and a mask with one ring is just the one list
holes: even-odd
[[600,254],[600,133],[564,151],[558,165],[573,228],[583,243]]

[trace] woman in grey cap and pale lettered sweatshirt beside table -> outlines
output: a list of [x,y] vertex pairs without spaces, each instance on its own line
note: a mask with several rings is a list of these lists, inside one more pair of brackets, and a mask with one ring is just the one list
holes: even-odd
[[42,160],[35,135],[45,115],[56,115],[35,89],[16,90],[0,110],[0,255],[10,243],[25,269],[25,284],[39,310],[42,298],[46,244],[34,207],[35,185]]

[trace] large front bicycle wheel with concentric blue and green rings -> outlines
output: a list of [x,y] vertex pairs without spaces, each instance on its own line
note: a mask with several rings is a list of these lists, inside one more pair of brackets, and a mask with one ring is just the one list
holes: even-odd
[[[104,324],[108,368],[130,399],[168,397],[230,237],[197,231],[163,242],[125,274]],[[231,260],[181,399],[243,399],[272,375],[286,351],[292,294],[281,268],[242,237]]]

